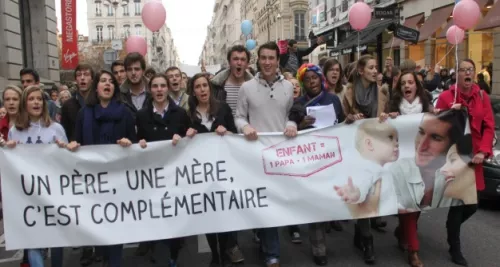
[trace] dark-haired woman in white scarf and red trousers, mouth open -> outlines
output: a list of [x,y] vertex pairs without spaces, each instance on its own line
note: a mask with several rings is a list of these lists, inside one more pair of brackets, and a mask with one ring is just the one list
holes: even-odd
[[[417,74],[414,71],[403,73],[393,87],[392,98],[389,102],[389,113],[382,113],[380,119],[383,121],[388,117],[395,118],[398,115],[418,114],[432,112],[434,107],[429,100]],[[408,263],[412,267],[424,266],[418,256],[420,244],[417,234],[417,223],[420,212],[400,211],[399,225],[394,231],[401,250],[408,250]]]

